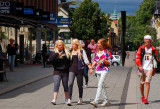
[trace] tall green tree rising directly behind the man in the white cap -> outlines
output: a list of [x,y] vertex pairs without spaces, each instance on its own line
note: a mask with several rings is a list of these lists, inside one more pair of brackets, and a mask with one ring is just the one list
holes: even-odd
[[136,37],[134,42],[139,45],[143,43],[145,35],[151,35],[154,39],[153,45],[156,45],[156,30],[150,26],[151,19],[156,10],[156,0],[143,0],[139,5],[139,10],[136,12]]

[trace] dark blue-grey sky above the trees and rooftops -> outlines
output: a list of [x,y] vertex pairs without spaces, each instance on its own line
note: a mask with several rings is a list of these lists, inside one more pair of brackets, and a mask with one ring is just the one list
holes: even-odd
[[[59,0],[60,1],[60,0]],[[67,0],[68,1],[83,1],[83,0]],[[116,9],[118,17],[121,15],[121,11],[126,11],[127,15],[136,15],[136,11],[139,8],[139,4],[143,0],[93,0],[99,3],[101,11],[105,13],[114,13]],[[60,2],[59,2],[60,3]],[[77,5],[78,6],[78,5]],[[77,7],[71,6],[71,7]]]

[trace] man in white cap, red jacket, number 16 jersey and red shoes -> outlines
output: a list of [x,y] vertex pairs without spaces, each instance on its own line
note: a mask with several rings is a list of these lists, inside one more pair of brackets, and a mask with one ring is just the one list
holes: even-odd
[[[141,100],[148,104],[148,95],[152,76],[155,75],[157,67],[157,49],[151,45],[152,38],[150,35],[144,36],[144,45],[140,46],[137,52],[136,64],[139,69]],[[144,94],[144,84],[145,94]]]

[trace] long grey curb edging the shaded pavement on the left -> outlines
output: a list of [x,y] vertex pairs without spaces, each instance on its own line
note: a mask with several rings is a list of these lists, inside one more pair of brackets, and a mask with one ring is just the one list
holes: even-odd
[[37,77],[37,78],[33,78],[33,79],[30,79],[30,80],[24,81],[23,83],[14,85],[14,86],[12,86],[12,87],[5,88],[5,89],[1,89],[1,90],[0,90],[0,95],[5,94],[5,93],[8,93],[8,92],[13,91],[13,90],[15,90],[15,89],[18,89],[18,88],[20,88],[20,87],[23,87],[23,86],[25,86],[25,85],[27,85],[27,84],[30,84],[30,83],[39,81],[39,80],[41,80],[41,79],[44,79],[44,78],[49,77],[49,76],[52,76],[52,75],[53,75],[53,73],[48,73],[48,74],[39,76],[39,77]]

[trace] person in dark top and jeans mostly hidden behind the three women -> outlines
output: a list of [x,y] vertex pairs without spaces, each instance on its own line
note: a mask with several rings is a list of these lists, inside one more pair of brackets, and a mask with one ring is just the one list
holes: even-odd
[[[82,48],[86,51],[86,54],[87,54],[87,57],[88,57],[88,60],[89,62],[91,63],[91,49],[88,48],[88,43],[87,41],[83,41],[82,42]],[[83,76],[85,78],[85,85],[84,87],[86,88],[88,86],[88,66],[85,65],[84,66],[84,72],[83,72]]]

